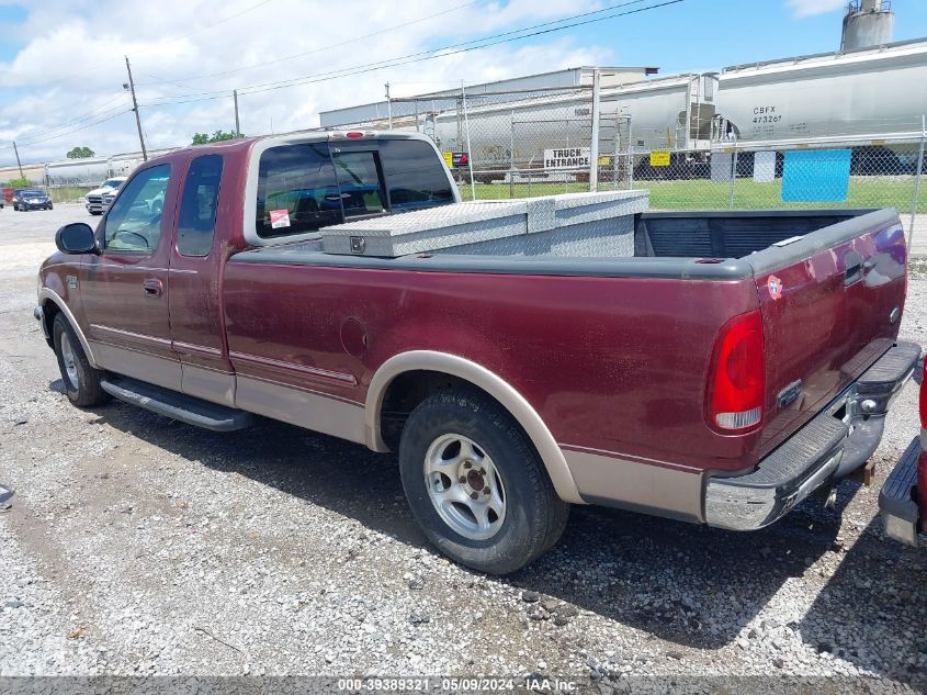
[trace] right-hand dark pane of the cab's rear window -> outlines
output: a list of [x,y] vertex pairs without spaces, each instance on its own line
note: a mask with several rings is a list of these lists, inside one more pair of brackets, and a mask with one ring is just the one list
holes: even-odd
[[393,212],[454,202],[444,167],[428,143],[384,139],[380,143],[380,157]]

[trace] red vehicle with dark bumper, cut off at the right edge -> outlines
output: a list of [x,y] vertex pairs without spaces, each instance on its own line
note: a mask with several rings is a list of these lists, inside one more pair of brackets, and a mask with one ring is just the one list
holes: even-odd
[[917,545],[919,533],[927,533],[927,384],[923,363],[918,373],[920,436],[912,439],[879,493],[885,535],[909,546]]

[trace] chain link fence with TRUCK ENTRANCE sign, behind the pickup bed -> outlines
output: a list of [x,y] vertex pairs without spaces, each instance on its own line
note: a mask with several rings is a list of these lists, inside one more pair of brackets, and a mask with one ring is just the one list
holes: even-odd
[[[590,190],[597,130],[596,188],[647,189],[654,210],[895,208],[907,216],[906,226],[927,227],[927,191],[920,194],[927,168],[924,133],[881,141],[869,123],[851,123],[843,137],[834,133],[833,142],[743,146],[732,136],[711,147],[680,150],[674,144],[680,142],[685,120],[665,132],[635,131],[619,105],[602,111],[596,124],[592,102],[590,87],[461,89],[396,100],[391,108],[393,127],[414,128],[434,141],[464,200]],[[869,135],[861,138],[860,132]],[[662,141],[665,149],[642,148]],[[835,166],[848,167],[848,182],[846,175],[843,184],[832,181]],[[827,181],[834,190],[822,191]]]

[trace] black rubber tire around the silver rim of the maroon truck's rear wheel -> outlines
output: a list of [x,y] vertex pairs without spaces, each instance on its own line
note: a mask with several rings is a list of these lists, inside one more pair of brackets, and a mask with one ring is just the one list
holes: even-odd
[[[449,435],[475,442],[501,479],[505,515],[491,537],[462,535],[431,501],[427,453]],[[445,391],[422,401],[403,428],[399,470],[406,498],[428,539],[452,560],[481,572],[508,574],[533,562],[556,543],[569,515],[569,505],[557,496],[524,433],[495,401],[478,392]]]

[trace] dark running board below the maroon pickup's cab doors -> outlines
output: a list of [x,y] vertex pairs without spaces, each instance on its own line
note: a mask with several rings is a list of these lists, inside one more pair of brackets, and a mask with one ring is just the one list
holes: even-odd
[[255,422],[253,415],[245,411],[210,403],[127,377],[110,377],[100,381],[100,386],[120,401],[213,431],[244,429]]

